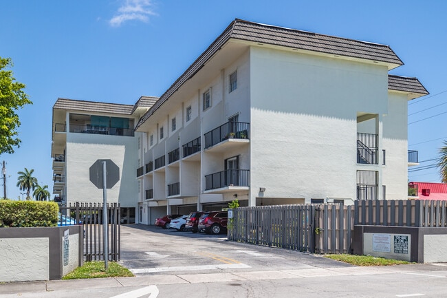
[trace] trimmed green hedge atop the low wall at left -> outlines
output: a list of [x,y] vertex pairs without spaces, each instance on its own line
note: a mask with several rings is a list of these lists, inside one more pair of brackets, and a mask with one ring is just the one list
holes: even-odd
[[0,227],[57,226],[55,202],[0,200]]

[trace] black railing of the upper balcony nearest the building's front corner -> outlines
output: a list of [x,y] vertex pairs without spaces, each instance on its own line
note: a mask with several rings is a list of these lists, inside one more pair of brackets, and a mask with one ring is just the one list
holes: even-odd
[[214,146],[228,138],[250,138],[250,123],[227,122],[205,134],[205,148]]

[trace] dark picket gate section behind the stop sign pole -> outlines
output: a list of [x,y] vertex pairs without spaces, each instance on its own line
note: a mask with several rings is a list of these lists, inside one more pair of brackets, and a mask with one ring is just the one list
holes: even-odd
[[[84,261],[101,261],[105,259],[104,237],[102,233],[102,204],[79,203],[59,206],[62,214],[70,215],[84,226]],[[120,204],[107,204],[108,248],[107,259],[118,261],[121,256]]]

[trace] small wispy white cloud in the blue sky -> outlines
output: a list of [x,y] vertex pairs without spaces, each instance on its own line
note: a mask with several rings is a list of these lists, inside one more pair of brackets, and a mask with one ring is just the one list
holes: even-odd
[[152,0],[125,0],[118,13],[109,21],[113,27],[119,27],[125,21],[149,21],[149,16],[154,15]]

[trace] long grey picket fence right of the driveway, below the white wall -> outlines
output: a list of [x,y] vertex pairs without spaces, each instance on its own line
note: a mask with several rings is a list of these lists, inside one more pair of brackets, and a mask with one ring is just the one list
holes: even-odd
[[447,227],[447,201],[360,200],[233,209],[228,240],[310,253],[352,253],[354,225]]

